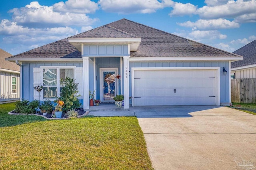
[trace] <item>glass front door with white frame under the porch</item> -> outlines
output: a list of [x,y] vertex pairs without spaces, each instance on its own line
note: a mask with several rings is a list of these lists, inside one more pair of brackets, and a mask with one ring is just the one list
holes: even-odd
[[118,91],[116,84],[117,68],[101,68],[100,69],[100,100],[102,102],[112,102]]

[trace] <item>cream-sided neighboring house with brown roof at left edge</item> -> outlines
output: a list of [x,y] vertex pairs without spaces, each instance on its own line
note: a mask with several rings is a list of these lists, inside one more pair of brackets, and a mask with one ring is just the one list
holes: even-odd
[[0,49],[0,102],[20,99],[20,66],[5,61],[12,56]]

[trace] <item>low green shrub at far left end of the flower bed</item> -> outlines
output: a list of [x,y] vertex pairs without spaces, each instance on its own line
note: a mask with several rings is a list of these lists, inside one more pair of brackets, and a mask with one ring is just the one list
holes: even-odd
[[28,100],[17,101],[15,102],[15,113],[22,113],[22,114],[32,114],[36,113],[36,107],[39,106],[38,100],[33,100],[29,102]]

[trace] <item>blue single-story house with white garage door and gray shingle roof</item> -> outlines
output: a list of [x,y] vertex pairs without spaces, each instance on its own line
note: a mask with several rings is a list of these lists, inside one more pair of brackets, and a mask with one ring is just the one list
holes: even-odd
[[124,108],[130,107],[129,97],[132,106],[229,105],[230,63],[241,59],[122,19],[7,60],[22,64],[22,98],[37,100],[33,86],[43,85],[40,100],[54,100],[60,79],[68,76],[76,79],[88,109],[89,90],[102,102],[124,94]]

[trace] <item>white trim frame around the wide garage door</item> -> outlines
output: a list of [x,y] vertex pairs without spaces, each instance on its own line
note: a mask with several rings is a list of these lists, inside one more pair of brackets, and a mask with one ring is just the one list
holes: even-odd
[[132,106],[134,106],[134,70],[216,70],[216,99],[220,106],[220,67],[132,67]]

